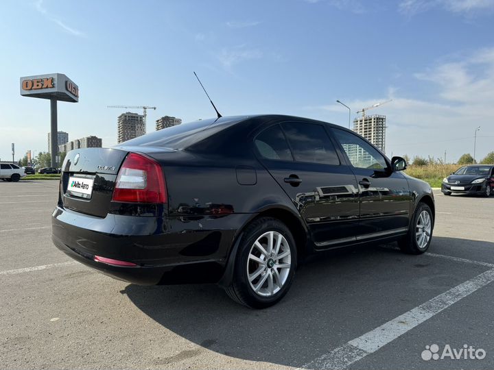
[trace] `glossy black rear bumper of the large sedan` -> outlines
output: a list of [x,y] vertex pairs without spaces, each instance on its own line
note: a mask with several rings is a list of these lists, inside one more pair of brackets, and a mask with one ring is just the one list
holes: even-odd
[[[243,224],[248,216],[228,214],[189,221],[108,214],[102,219],[58,207],[51,219],[52,240],[71,258],[134,284],[217,282],[237,231],[234,225]],[[97,262],[95,256],[137,266]]]

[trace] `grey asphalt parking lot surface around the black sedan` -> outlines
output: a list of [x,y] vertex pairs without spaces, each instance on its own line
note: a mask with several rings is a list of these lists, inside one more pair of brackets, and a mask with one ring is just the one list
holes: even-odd
[[[494,197],[436,191],[429,253],[324,256],[250,310],[214,285],[135,286],[71,261],[51,243],[57,190],[0,182],[4,369],[494,368]],[[448,345],[484,358],[422,358]]]

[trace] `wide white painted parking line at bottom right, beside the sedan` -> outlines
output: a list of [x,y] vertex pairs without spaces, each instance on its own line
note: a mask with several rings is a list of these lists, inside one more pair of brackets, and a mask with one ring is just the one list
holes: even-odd
[[378,328],[333,349],[328,354],[308,362],[301,369],[345,369],[493,281],[494,269],[481,273]]

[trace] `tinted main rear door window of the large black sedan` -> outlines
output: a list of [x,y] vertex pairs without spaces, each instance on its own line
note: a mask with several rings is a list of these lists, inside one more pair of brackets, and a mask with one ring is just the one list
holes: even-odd
[[316,123],[287,122],[283,131],[299,162],[340,164],[336,149],[329,140],[325,127]]

